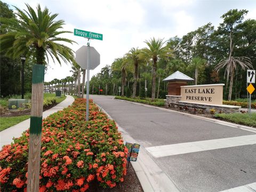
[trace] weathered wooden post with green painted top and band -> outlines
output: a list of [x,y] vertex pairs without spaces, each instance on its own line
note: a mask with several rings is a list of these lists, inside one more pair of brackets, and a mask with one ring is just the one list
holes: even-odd
[[34,65],[32,73],[32,98],[28,156],[28,192],[39,191],[44,65]]

